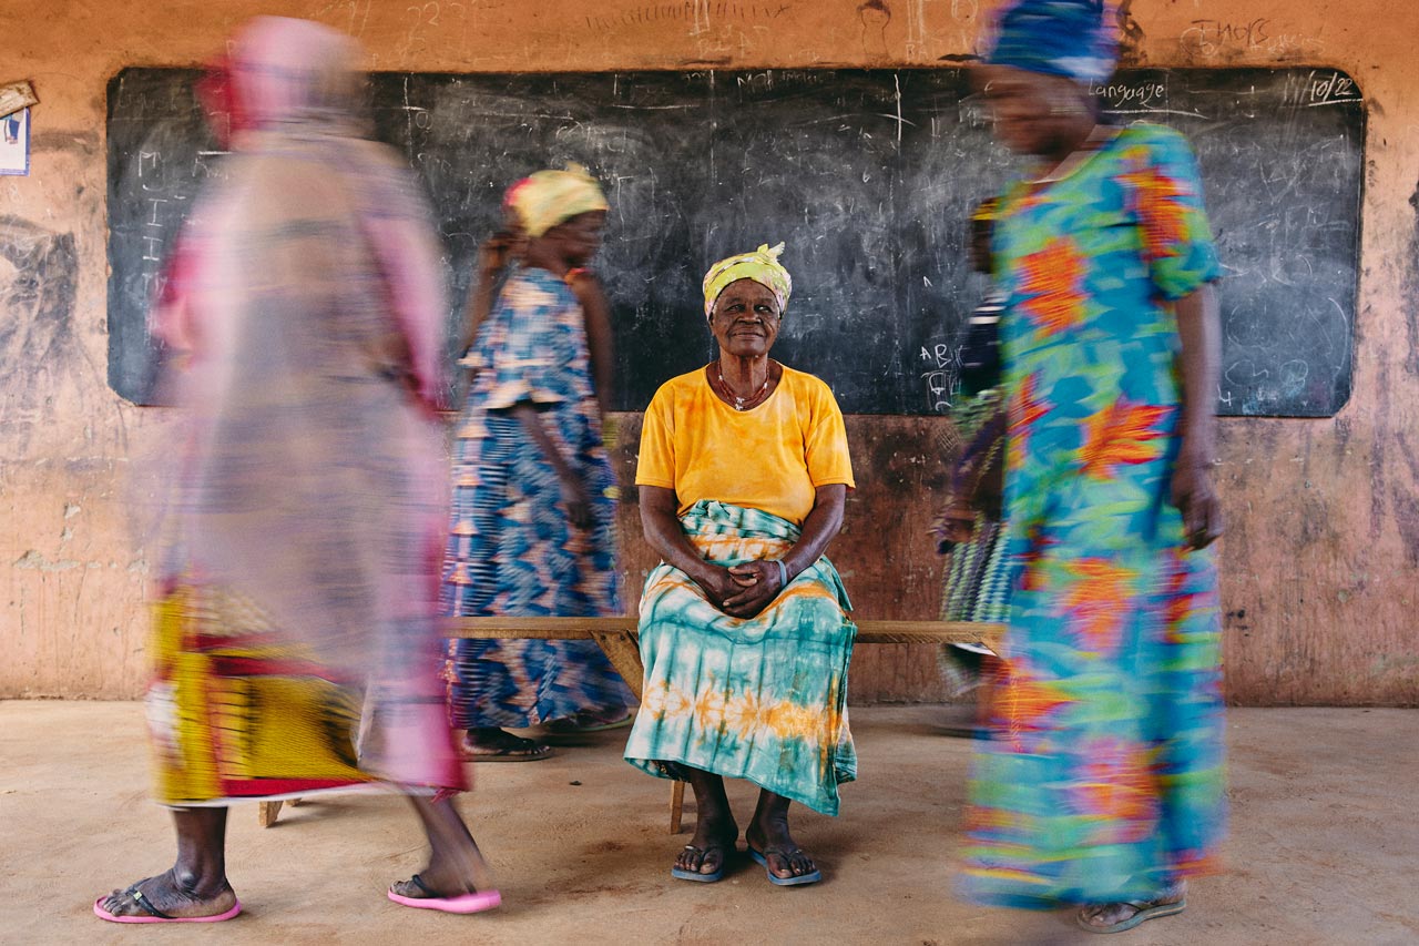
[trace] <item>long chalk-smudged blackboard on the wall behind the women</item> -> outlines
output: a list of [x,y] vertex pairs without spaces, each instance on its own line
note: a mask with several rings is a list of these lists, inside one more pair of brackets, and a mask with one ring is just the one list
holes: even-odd
[[[109,384],[150,403],[146,311],[160,261],[221,155],[190,70],[126,68],[108,89]],[[1359,271],[1364,104],[1332,70],[1125,70],[1097,89],[1118,121],[1193,142],[1227,268],[1229,415],[1344,405]],[[616,406],[704,364],[700,278],[785,240],[795,295],[775,357],[824,378],[847,413],[945,413],[954,339],[983,287],[964,220],[1016,161],[965,72],[819,70],[370,77],[376,135],[438,212],[461,320],[502,189],[579,161],[612,203],[596,268],[616,318]],[[450,357],[453,352],[450,351]]]

